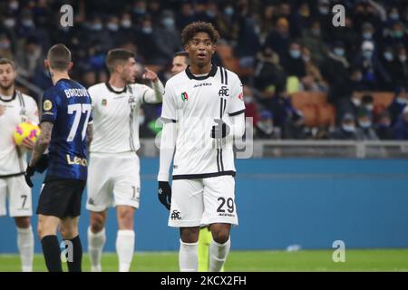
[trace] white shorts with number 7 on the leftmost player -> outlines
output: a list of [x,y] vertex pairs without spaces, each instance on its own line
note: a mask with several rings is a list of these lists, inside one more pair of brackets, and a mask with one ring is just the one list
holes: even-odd
[[0,178],[0,216],[7,214],[7,199],[10,217],[33,216],[31,189],[25,183],[24,175]]

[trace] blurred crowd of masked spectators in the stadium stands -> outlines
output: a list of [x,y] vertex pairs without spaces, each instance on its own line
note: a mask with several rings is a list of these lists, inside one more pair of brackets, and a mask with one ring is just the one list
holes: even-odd
[[[73,27],[59,24],[63,4]],[[344,27],[332,24],[335,4]],[[0,56],[44,90],[53,43],[71,49],[72,77],[87,86],[107,81],[106,52],[125,47],[166,81],[180,31],[198,20],[219,30],[214,63],[245,84],[256,138],[408,140],[408,0],[5,0]],[[160,106],[142,110],[141,137],[152,137]]]

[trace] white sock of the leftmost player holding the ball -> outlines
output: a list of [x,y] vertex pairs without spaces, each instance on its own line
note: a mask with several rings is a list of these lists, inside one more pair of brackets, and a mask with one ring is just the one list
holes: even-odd
[[20,252],[23,272],[33,272],[34,235],[33,227],[17,227],[17,247]]

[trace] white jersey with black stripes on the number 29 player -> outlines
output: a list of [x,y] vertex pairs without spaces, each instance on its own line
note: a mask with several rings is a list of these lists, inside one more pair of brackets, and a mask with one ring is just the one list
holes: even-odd
[[[233,139],[212,139],[214,120],[230,123],[230,116],[245,112],[238,75],[212,66],[205,76],[189,67],[166,83],[161,118],[178,122],[173,179],[202,179],[235,175]],[[165,146],[166,144],[160,144]]]

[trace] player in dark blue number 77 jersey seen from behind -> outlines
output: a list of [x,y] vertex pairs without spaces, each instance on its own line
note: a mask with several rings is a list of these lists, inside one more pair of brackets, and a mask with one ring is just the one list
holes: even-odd
[[[67,259],[68,269],[81,272],[83,247],[78,222],[88,174],[87,144],[92,139],[91,97],[83,85],[70,78],[68,72],[73,63],[65,45],[53,45],[45,66],[50,71],[53,87],[43,95],[41,134],[34,144],[25,180],[33,187],[34,171],[42,172],[48,165],[36,211],[45,264],[50,272],[63,271],[56,236],[60,229],[71,257]],[[47,147],[48,164],[44,161]]]

